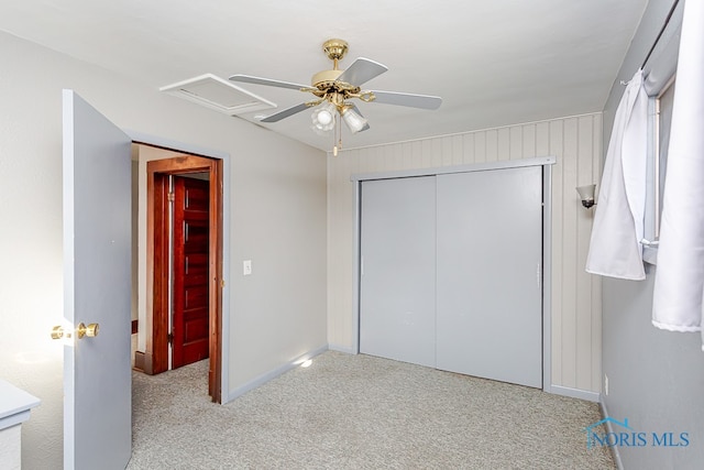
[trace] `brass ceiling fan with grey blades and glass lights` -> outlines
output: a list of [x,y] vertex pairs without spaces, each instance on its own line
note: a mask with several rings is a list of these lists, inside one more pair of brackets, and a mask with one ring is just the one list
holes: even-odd
[[[413,95],[396,91],[363,90],[361,85],[388,70],[386,66],[369,58],[359,57],[345,70],[338,68],[338,63],[348,52],[348,43],[342,40],[328,40],[322,44],[322,50],[332,61],[332,70],[322,70],[312,76],[311,86],[294,84],[290,81],[274,80],[271,78],[254,77],[251,75],[233,75],[232,81],[241,81],[254,85],[266,85],[278,88],[289,88],[304,92],[310,92],[315,99],[267,116],[261,122],[277,122],[294,116],[308,108],[316,108],[312,113],[312,128],[317,132],[334,130],[338,116],[348,125],[352,133],[365,131],[370,128],[366,119],[352,99],[364,102],[382,102],[386,105],[406,106],[420,109],[438,109],[442,98],[428,95]],[[337,155],[338,146],[333,149]]]

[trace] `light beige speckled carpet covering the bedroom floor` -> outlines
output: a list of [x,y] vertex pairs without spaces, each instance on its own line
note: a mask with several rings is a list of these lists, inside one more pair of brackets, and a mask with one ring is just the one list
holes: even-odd
[[133,375],[128,469],[613,469],[582,429],[598,406],[327,351],[226,405],[207,361]]

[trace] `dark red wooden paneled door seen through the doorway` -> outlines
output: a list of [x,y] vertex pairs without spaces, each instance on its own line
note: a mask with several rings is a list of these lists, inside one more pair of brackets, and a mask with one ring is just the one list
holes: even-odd
[[174,176],[172,368],[208,358],[209,182]]

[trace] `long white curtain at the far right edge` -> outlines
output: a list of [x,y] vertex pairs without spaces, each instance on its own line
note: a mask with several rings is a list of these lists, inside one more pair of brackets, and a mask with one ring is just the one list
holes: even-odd
[[704,1],[682,19],[652,323],[702,327],[704,296]]

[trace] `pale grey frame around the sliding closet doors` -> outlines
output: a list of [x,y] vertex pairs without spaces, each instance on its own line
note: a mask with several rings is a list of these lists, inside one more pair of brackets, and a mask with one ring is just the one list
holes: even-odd
[[414,176],[437,176],[451,173],[485,172],[490,170],[542,166],[542,390],[557,393],[552,386],[552,165],[554,156],[538,156],[502,162],[453,165],[432,168],[399,170],[380,173],[353,174],[354,183],[354,284],[353,284],[353,343],[350,352],[360,353],[360,295],[361,295],[361,221],[362,182]]

